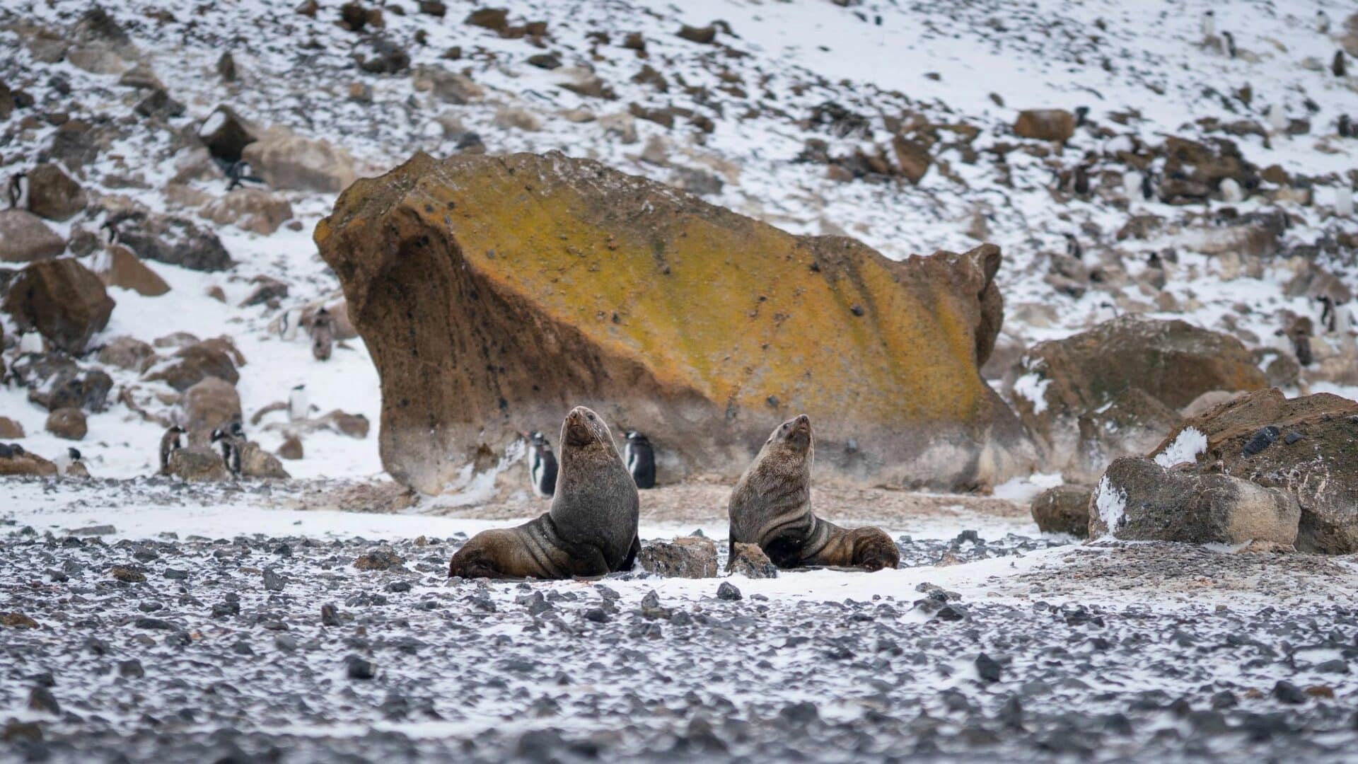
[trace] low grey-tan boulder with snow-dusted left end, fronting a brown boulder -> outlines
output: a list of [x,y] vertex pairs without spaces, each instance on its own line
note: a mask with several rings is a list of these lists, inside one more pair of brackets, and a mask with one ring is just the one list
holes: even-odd
[[1089,536],[1127,541],[1244,544],[1297,541],[1301,507],[1281,488],[1160,466],[1123,457],[1099,480],[1089,502]]

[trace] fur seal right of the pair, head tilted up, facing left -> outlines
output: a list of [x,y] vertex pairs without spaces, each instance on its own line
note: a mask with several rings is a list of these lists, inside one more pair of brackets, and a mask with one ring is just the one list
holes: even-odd
[[784,421],[759,449],[731,492],[731,548],[758,544],[779,568],[842,566],[869,571],[900,563],[891,537],[877,527],[853,530],[811,511],[811,419]]

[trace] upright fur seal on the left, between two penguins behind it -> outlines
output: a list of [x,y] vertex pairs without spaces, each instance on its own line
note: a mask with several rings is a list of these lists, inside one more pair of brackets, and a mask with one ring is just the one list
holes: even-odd
[[599,415],[576,406],[559,443],[551,508],[517,527],[475,534],[452,556],[449,576],[558,579],[631,568],[641,551],[641,502],[612,432]]

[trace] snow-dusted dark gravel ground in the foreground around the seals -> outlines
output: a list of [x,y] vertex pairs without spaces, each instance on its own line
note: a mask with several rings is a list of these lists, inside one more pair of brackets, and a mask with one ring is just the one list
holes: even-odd
[[[974,514],[891,521],[906,567],[876,574],[486,583],[445,570],[492,521],[162,481],[110,484],[110,500],[12,488],[0,610],[37,628],[0,629],[0,757],[1338,761],[1358,746],[1351,557],[1078,546]],[[384,552],[401,563],[354,567]]]

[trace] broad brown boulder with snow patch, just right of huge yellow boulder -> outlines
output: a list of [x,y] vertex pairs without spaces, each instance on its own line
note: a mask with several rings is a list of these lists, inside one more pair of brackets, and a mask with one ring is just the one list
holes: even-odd
[[1046,469],[1085,484],[1118,457],[1146,454],[1198,396],[1266,386],[1234,337],[1137,317],[1039,343],[1010,374],[1014,411]]

